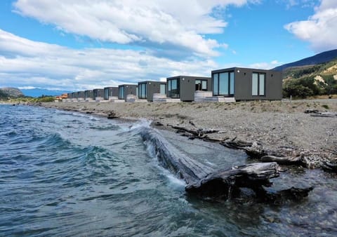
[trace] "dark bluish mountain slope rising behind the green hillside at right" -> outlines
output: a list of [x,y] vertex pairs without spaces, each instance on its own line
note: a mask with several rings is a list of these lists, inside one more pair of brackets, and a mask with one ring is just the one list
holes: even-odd
[[290,62],[285,65],[281,65],[279,67],[275,67],[274,70],[284,71],[284,69],[288,69],[289,67],[301,67],[308,65],[319,65],[324,62],[330,62],[337,58],[337,49],[329,50],[323,53],[319,53],[312,57],[305,57],[303,60],[298,60],[296,62]]

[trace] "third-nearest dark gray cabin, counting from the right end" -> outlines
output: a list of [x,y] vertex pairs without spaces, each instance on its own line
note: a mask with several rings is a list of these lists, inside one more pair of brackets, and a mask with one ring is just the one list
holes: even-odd
[[138,83],[138,99],[152,102],[154,93],[166,95],[166,82],[141,81]]

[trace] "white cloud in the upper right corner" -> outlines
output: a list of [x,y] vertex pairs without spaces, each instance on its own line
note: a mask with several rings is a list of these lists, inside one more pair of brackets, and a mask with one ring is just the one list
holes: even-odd
[[337,1],[322,0],[308,20],[284,27],[298,39],[308,41],[317,52],[337,48]]

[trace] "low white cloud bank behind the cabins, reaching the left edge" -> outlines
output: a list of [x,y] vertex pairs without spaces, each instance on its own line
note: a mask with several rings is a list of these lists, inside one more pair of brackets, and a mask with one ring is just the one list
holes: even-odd
[[1,86],[84,90],[176,74],[209,76],[216,67],[213,60],[174,61],[147,50],[72,49],[0,29]]

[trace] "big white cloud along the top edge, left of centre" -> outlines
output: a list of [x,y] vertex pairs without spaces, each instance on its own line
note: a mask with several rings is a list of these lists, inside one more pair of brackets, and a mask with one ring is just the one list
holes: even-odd
[[[18,0],[15,11],[55,25],[61,32],[114,43],[178,46],[197,56],[216,56],[226,45],[204,34],[223,32],[227,22],[212,13],[229,4],[257,0]],[[218,14],[219,15],[219,14]]]

